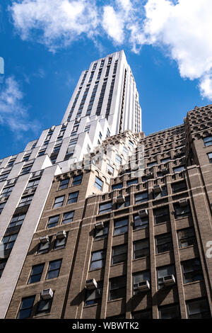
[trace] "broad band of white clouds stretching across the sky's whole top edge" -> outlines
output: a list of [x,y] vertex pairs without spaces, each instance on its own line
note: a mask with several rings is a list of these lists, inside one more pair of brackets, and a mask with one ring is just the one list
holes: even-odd
[[97,0],[15,0],[10,10],[21,37],[36,30],[50,50],[83,35],[102,48],[104,33],[136,53],[143,45],[160,46],[181,77],[199,79],[201,95],[211,99],[211,0],[107,0],[102,6]]

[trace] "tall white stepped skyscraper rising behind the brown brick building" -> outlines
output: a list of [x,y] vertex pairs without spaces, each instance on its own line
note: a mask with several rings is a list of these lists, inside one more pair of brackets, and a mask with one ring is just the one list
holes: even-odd
[[0,160],[1,318],[54,176],[69,172],[102,140],[124,130],[141,132],[141,108],[134,77],[120,51],[92,62],[81,74],[60,125],[43,130],[23,152]]

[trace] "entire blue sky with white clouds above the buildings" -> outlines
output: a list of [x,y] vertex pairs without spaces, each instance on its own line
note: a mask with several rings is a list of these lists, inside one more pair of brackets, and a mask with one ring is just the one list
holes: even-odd
[[146,135],[182,123],[212,101],[211,16],[211,0],[1,3],[0,157],[58,125],[81,71],[122,49]]

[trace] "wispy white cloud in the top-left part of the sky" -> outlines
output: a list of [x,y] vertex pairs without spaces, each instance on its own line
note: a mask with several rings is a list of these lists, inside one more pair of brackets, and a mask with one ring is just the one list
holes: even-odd
[[54,51],[80,35],[92,37],[97,26],[95,3],[91,0],[23,0],[9,7],[13,22],[23,40],[33,30],[41,30],[40,43]]

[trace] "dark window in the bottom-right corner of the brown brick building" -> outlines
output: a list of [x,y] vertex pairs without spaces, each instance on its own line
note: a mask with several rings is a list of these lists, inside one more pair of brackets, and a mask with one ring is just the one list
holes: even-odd
[[187,314],[189,319],[208,319],[211,318],[208,301],[201,300],[189,300],[187,302]]

